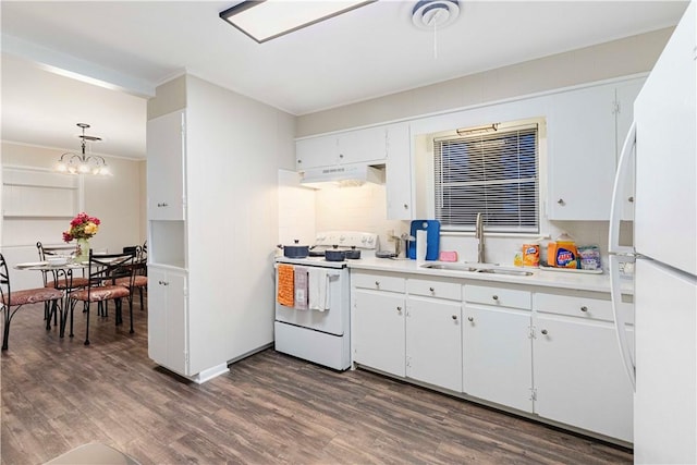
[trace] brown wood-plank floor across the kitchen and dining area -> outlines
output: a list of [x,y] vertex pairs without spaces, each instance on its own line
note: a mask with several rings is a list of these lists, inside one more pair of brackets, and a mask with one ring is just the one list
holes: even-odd
[[365,370],[335,372],[272,350],[203,386],[147,357],[134,335],[93,318],[83,345],[22,309],[2,353],[2,464],[40,464],[102,442],[142,464],[601,464],[631,451]]

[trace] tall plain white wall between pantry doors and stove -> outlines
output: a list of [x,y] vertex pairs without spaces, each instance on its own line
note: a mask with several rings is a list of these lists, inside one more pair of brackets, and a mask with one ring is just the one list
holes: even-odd
[[292,115],[186,76],[188,336],[204,366],[273,341],[278,170],[294,164],[294,131]]

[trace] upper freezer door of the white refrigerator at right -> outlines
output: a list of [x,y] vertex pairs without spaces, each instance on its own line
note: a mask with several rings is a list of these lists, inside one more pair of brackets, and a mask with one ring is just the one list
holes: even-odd
[[634,105],[639,254],[697,276],[697,4],[675,28]]

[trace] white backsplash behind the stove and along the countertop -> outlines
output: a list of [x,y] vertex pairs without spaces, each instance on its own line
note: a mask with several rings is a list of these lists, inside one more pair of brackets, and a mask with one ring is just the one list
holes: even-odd
[[[313,191],[299,186],[296,173],[291,171],[284,173],[279,175],[281,189],[279,241],[282,244],[298,238],[302,243],[311,245],[316,231],[354,230],[377,233],[380,241],[379,248],[393,250],[394,243],[388,241],[388,231],[393,231],[396,235],[409,231],[408,221],[387,220],[383,185],[364,184],[357,187]],[[542,223],[547,231],[542,238],[486,235],[487,261],[512,265],[515,253],[521,250],[522,245],[535,243],[538,238],[540,255],[543,259],[547,257],[547,243],[566,232],[577,245],[598,245],[602,267],[607,269],[607,221],[543,221]],[[624,228],[621,233],[623,242],[631,244],[631,228]],[[477,240],[472,234],[442,233],[440,249],[456,252],[458,261],[477,259]]]

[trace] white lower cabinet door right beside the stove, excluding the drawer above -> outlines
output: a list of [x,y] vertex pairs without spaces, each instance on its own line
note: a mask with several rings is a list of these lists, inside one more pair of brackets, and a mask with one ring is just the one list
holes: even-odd
[[404,296],[387,292],[354,291],[354,362],[403,377]]

